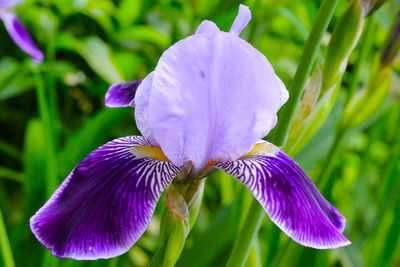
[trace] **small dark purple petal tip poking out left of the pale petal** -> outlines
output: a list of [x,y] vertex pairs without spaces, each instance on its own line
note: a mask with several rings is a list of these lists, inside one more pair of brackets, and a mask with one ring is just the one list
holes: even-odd
[[141,82],[142,80],[137,80],[111,85],[106,93],[104,104],[109,108],[134,106],[133,99]]

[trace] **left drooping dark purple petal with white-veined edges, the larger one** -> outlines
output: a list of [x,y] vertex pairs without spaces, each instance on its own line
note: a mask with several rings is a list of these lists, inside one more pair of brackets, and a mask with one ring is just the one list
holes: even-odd
[[91,152],[31,218],[53,255],[78,260],[123,254],[140,238],[178,168],[135,158],[141,136],[115,139]]

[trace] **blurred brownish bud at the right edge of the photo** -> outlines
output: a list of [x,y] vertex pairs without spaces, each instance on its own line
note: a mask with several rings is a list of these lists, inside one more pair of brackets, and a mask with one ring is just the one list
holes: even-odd
[[400,50],[400,12],[397,14],[396,20],[390,30],[383,49],[381,52],[382,66],[392,65],[399,54]]

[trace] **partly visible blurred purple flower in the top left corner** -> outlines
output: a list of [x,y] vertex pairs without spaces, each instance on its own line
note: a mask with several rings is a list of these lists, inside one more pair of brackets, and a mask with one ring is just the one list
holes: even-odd
[[11,11],[11,8],[15,7],[18,2],[20,1],[0,0],[0,18],[3,20],[4,26],[14,43],[30,55],[33,62],[41,63],[44,58],[42,51],[37,48],[24,25],[22,25],[15,13]]

